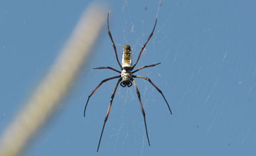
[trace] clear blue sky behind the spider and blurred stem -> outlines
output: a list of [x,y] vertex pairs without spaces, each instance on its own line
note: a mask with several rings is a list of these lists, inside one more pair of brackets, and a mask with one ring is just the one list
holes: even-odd
[[[0,133],[22,108],[92,1],[0,1]],[[119,59],[132,47],[135,61],[159,1],[103,1]],[[118,69],[107,27],[68,96],[23,155],[255,155],[255,1],[161,1],[156,30],[137,67],[166,96],[137,80],[151,146],[134,87],[117,88],[100,151],[97,143]],[[107,20],[107,12],[106,12]]]

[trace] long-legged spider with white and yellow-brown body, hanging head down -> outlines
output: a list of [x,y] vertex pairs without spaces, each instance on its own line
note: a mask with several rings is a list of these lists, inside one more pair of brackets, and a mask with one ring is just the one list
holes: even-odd
[[[134,87],[135,87],[135,89],[137,91],[137,95],[138,95],[138,98],[139,98],[139,104],[140,104],[140,107],[142,109],[142,115],[144,117],[144,124],[145,124],[145,129],[146,129],[146,138],[148,140],[149,146],[150,146],[150,142],[149,142],[149,134],[148,134],[148,131],[147,131],[147,128],[146,128],[145,112],[144,112],[144,108],[142,106],[142,99],[141,99],[141,96],[139,94],[139,89],[137,87],[137,84],[136,84],[134,78],[141,78],[141,79],[146,79],[147,81],[149,81],[149,83],[151,83],[156,88],[156,90],[159,91],[159,93],[163,96],[164,101],[166,101],[166,98],[164,97],[164,94],[162,93],[162,91],[158,87],[156,87],[156,85],[153,82],[151,82],[151,79],[149,79],[149,77],[142,77],[142,76],[134,74],[135,72],[138,72],[139,70],[144,69],[146,67],[154,67],[156,65],[159,65],[160,62],[157,63],[157,64],[154,64],[154,65],[146,65],[146,66],[140,67],[139,69],[136,69],[136,70],[133,71],[134,67],[137,65],[137,62],[139,62],[139,58],[142,55],[142,51],[146,47],[146,43],[149,42],[149,39],[152,37],[152,35],[154,33],[154,29],[156,28],[157,17],[156,17],[156,22],[154,23],[154,28],[153,28],[152,32],[150,33],[149,38],[146,40],[146,43],[144,43],[144,45],[142,46],[142,50],[139,52],[139,57],[137,58],[137,61],[135,62],[135,64],[132,66],[132,55],[131,55],[132,54],[132,50],[131,50],[131,47],[129,45],[124,45],[123,54],[122,54],[122,65],[120,64],[120,62],[118,60],[117,48],[114,45],[114,40],[113,40],[112,35],[110,33],[109,14],[110,13],[107,13],[107,30],[108,30],[108,34],[110,35],[110,39],[112,41],[112,45],[113,45],[113,48],[114,48],[114,53],[115,53],[115,56],[116,56],[116,59],[117,59],[117,63],[119,65],[119,67],[122,69],[122,72],[120,72],[119,70],[114,69],[112,67],[97,67],[97,68],[93,68],[93,69],[111,69],[111,70],[114,70],[114,72],[118,72],[119,73],[119,75],[117,75],[115,77],[110,77],[110,78],[107,78],[107,79],[103,79],[100,82],[100,84],[98,84],[97,87],[88,96],[87,102],[85,104],[85,110],[86,110],[86,107],[87,107],[87,104],[88,104],[88,101],[89,101],[90,97],[100,87],[100,85],[102,85],[104,82],[107,82],[107,81],[109,81],[111,79],[119,78],[117,80],[117,84],[114,87],[114,91],[113,91],[111,99],[110,99],[110,106],[107,109],[107,115],[105,116],[105,121],[104,121],[104,124],[103,124],[103,127],[102,127],[102,132],[100,134],[100,140],[99,140],[99,143],[98,143],[98,146],[97,146],[97,152],[99,151],[100,141],[102,139],[102,134],[103,134],[103,131],[104,131],[104,128],[105,128],[105,124],[107,122],[107,118],[108,118],[109,113],[110,113],[110,108],[112,106],[112,101],[114,99],[114,94],[117,91],[118,84],[120,84],[122,87],[131,87],[132,86],[132,82],[134,83]],[[170,106],[169,106],[167,101],[166,101],[166,104],[167,104],[167,106],[169,108],[169,111],[171,113],[171,108],[170,108]],[[85,110],[84,110],[84,116],[85,116]]]

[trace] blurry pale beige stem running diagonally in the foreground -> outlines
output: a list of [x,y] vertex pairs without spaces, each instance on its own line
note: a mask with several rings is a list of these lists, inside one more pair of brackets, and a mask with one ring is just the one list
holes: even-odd
[[88,59],[107,13],[102,5],[93,4],[82,14],[70,39],[0,140],[0,155],[20,155],[28,140],[47,121],[68,92],[70,84]]

